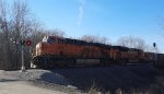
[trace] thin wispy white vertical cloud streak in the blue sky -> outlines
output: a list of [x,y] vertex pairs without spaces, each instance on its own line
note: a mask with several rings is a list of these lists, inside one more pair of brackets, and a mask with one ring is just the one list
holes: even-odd
[[84,15],[84,4],[85,0],[79,0],[80,5],[79,5],[79,16],[78,16],[78,26],[81,26],[83,15]]

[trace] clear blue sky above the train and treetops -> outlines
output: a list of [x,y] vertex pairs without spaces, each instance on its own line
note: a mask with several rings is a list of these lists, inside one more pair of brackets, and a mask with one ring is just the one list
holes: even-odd
[[98,35],[113,44],[122,36],[156,43],[164,52],[164,0],[27,0],[28,7],[48,28],[68,36]]

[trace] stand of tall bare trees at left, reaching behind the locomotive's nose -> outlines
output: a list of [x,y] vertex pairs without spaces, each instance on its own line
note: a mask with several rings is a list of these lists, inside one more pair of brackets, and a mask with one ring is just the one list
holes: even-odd
[[35,45],[46,35],[65,36],[60,30],[47,31],[40,22],[31,16],[25,0],[15,0],[8,4],[0,0],[0,69],[21,68],[20,40],[31,39],[32,46],[24,46],[25,66],[30,67],[31,55]]

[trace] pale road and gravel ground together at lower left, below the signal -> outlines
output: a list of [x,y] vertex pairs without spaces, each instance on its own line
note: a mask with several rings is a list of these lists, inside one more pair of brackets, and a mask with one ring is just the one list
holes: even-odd
[[0,70],[0,94],[82,94],[65,77],[48,70]]

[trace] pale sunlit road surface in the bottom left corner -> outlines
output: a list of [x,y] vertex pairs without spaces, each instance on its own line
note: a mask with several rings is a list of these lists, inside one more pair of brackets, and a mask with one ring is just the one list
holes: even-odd
[[23,81],[1,81],[0,94],[67,94],[58,91],[40,89]]

